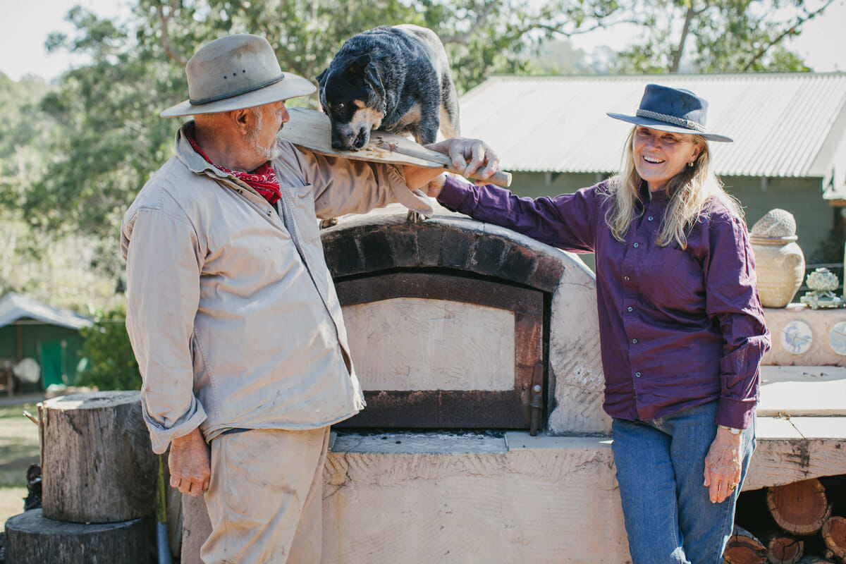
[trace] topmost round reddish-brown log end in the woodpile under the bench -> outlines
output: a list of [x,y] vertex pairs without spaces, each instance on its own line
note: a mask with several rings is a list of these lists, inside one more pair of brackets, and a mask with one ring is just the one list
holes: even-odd
[[767,488],[766,505],[778,526],[792,534],[816,533],[832,512],[818,479]]

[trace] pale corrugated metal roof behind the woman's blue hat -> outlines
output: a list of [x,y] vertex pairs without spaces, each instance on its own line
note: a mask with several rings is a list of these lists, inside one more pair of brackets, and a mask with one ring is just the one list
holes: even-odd
[[[645,85],[692,90],[709,102],[717,174],[825,177],[844,133],[846,74],[651,74],[602,77],[498,76],[461,97],[461,134],[485,140],[504,170],[616,172]],[[844,114],[846,115],[846,114]],[[824,151],[827,149],[828,151]]]

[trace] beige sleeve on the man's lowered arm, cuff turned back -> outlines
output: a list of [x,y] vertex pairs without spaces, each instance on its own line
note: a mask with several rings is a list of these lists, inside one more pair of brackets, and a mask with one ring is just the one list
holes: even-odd
[[141,405],[153,452],[205,419],[194,394],[191,340],[200,300],[200,254],[187,219],[155,208],[130,211],[121,231],[126,329],[143,379]]

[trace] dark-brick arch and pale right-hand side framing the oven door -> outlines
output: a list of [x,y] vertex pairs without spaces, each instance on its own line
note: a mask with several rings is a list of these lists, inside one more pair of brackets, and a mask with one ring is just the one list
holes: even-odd
[[438,269],[546,293],[547,431],[610,431],[610,419],[602,412],[596,277],[575,255],[448,211],[410,223],[395,206],[343,217],[321,238],[336,282],[395,269]]

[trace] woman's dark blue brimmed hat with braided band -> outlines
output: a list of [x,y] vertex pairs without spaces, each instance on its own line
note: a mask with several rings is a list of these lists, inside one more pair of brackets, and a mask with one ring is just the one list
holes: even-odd
[[634,116],[622,113],[608,113],[614,119],[642,125],[650,129],[681,134],[701,135],[710,141],[732,139],[725,135],[709,132],[705,128],[708,102],[689,90],[669,88],[662,85],[646,85],[640,107]]

